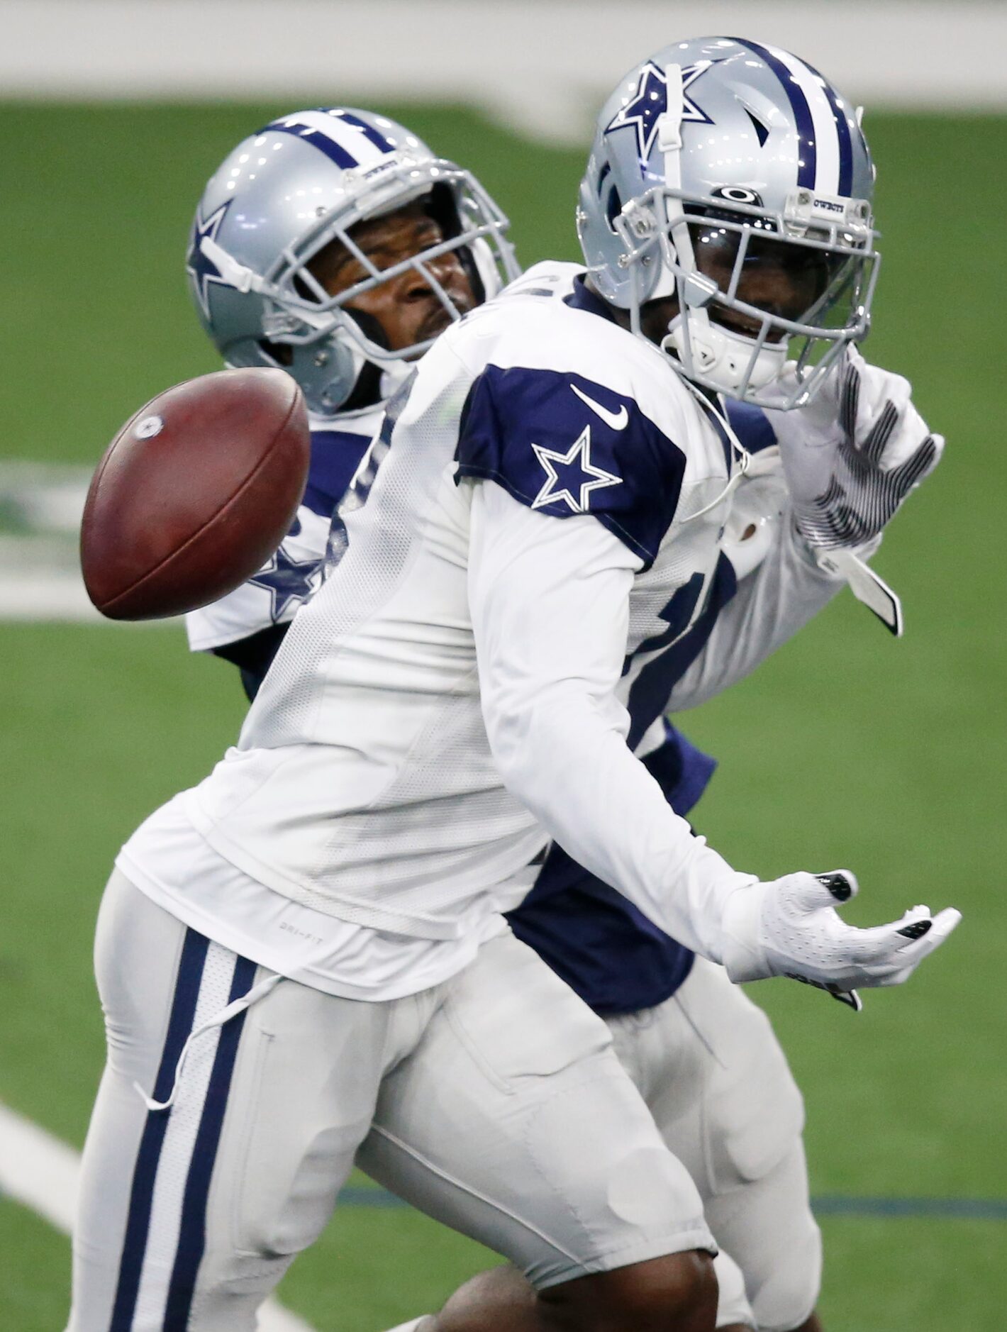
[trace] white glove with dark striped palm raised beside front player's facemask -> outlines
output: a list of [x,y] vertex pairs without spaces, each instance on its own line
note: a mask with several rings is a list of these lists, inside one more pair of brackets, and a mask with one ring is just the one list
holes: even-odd
[[[797,385],[787,366],[781,394]],[[805,408],[767,409],[777,433],[797,529],[810,546],[863,546],[940,461],[910,401],[908,380],[868,365],[856,348]]]

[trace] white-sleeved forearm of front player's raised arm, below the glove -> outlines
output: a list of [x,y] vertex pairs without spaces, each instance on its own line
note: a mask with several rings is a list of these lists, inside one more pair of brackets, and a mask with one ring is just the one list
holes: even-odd
[[818,567],[786,513],[765,559],[739,581],[703,650],[677,682],[669,711],[698,707],[743,679],[844,586],[843,578]]

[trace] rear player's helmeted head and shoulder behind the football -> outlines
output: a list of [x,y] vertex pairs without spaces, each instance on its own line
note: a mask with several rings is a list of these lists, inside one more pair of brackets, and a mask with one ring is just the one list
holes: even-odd
[[336,505],[410,364],[518,274],[480,182],[369,111],[293,112],[242,140],[196,209],[186,272],[228,365],[288,370],[312,426],[293,527],[254,578],[186,615],[189,645],[241,670],[248,697],[321,581]]

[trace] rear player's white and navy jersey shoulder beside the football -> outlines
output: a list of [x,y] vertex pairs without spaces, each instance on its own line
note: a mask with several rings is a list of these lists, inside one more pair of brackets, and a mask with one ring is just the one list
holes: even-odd
[[333,513],[384,413],[380,402],[336,417],[310,417],[308,485],[290,530],[257,574],[220,601],[189,611],[185,630],[192,651],[225,647],[288,623],[321,585]]

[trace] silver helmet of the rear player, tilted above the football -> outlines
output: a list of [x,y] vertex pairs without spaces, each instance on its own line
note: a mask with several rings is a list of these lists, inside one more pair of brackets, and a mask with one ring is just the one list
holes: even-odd
[[[352,228],[421,198],[444,241],[378,269]],[[457,320],[462,312],[430,264],[454,252],[477,301],[489,300],[519,272],[507,225],[468,170],[436,157],[402,125],[326,107],[281,116],[225,159],[196,209],[185,266],[200,320],[225,361],[280,366],[313,412],[333,414],[366,364],[394,370],[433,341],[392,352],[377,321],[348,304],[413,268]],[[309,265],[334,240],[366,276],[330,296]]]

